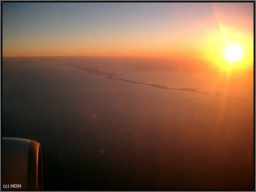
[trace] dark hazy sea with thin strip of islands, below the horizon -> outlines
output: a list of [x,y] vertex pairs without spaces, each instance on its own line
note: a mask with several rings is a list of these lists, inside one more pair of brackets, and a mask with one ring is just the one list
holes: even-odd
[[253,189],[253,76],[131,62],[3,58],[2,137],[40,142],[44,189]]

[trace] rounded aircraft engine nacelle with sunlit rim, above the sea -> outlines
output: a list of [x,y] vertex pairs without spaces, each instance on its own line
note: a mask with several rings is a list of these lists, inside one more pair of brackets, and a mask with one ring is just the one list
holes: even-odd
[[2,189],[43,189],[40,143],[21,138],[2,138]]

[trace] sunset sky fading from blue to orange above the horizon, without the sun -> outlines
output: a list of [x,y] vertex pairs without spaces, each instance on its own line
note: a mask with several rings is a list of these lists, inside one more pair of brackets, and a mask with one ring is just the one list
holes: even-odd
[[253,2],[2,2],[2,54],[253,57]]

